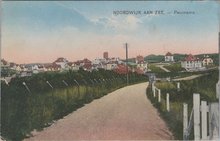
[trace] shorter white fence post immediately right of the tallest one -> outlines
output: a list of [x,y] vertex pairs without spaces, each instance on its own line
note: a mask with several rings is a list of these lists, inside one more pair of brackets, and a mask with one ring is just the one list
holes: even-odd
[[202,140],[207,140],[207,102],[202,101],[201,102],[201,112],[202,112]]

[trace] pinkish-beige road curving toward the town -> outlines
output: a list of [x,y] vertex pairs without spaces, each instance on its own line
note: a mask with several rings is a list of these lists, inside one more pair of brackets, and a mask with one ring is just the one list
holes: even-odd
[[148,83],[127,86],[58,120],[25,141],[170,140],[172,134],[146,97]]

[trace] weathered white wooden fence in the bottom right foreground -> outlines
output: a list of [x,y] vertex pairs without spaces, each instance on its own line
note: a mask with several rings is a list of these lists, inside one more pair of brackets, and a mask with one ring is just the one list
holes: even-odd
[[[217,140],[219,138],[219,105],[200,100],[193,94],[193,109],[188,120],[188,105],[183,104],[183,139],[188,140],[192,125],[194,140]],[[193,118],[192,118],[193,116]]]

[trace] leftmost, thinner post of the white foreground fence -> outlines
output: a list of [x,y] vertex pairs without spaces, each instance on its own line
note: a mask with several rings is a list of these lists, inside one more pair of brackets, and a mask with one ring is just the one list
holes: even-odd
[[183,140],[187,140],[188,136],[188,104],[183,103]]

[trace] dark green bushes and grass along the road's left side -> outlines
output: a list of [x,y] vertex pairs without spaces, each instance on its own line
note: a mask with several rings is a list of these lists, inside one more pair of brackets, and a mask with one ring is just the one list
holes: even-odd
[[[142,75],[129,76],[130,84],[146,81]],[[80,70],[14,78],[9,86],[1,83],[1,136],[20,141],[31,136],[34,129],[42,130],[93,99],[126,86],[126,76],[106,70]]]

